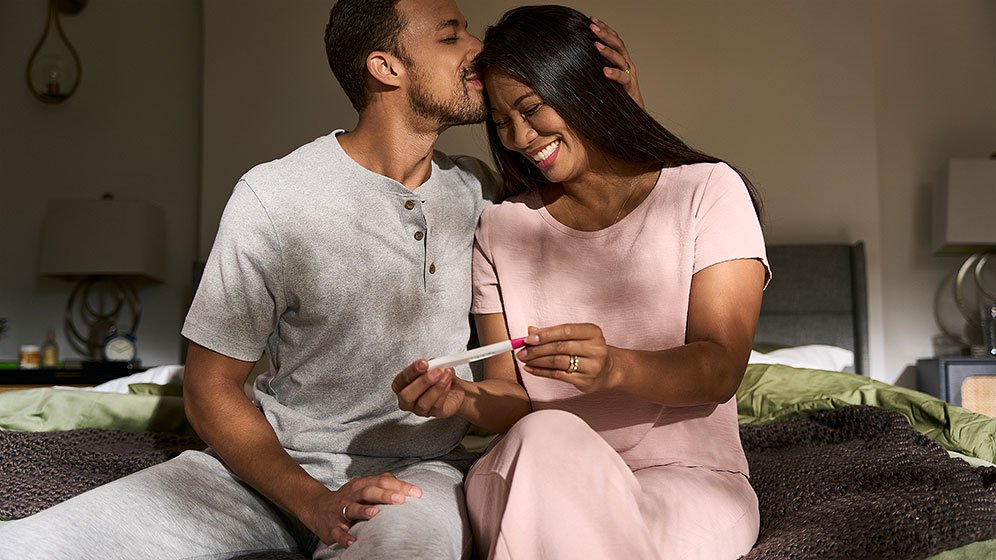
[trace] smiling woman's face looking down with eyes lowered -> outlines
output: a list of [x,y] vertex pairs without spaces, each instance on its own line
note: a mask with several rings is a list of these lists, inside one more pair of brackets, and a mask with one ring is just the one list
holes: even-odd
[[489,72],[489,118],[506,149],[518,152],[552,183],[579,177],[589,169],[588,150],[564,119],[526,84]]

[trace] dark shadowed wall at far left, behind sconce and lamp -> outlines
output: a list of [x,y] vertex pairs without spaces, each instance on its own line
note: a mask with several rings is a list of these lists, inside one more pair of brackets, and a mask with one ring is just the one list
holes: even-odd
[[137,335],[146,364],[176,363],[197,241],[201,2],[101,0],[65,17],[83,80],[61,105],[24,83],[45,15],[46,2],[0,2],[0,317],[9,327],[0,359],[40,344],[49,328],[74,355],[61,335],[72,284],[38,277],[45,202],[110,191],[164,211],[168,273],[141,289]]

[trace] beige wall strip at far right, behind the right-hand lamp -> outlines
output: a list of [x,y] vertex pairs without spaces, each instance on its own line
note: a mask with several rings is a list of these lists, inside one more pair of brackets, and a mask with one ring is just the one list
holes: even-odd
[[[932,298],[960,258],[930,250],[930,198],[948,159],[996,150],[996,2],[874,3],[886,372],[930,351]],[[988,201],[996,208],[996,189]],[[996,219],[996,218],[994,218]],[[953,297],[943,307],[953,308]]]

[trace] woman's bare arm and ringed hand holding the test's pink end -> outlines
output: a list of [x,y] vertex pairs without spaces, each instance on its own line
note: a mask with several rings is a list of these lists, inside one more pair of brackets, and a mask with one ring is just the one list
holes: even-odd
[[583,392],[613,389],[667,406],[726,402],[743,379],[764,281],[764,267],[755,259],[697,272],[681,346],[619,348],[605,343],[598,325],[561,324],[530,328],[526,348],[516,358],[526,374],[570,383]]

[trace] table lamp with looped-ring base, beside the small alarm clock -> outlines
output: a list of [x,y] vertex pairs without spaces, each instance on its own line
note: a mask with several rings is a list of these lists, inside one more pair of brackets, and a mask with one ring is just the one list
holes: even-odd
[[138,200],[52,200],[45,210],[39,273],[76,282],[64,316],[66,339],[104,359],[105,339],[133,336],[142,315],[135,281],[165,276],[165,219]]

